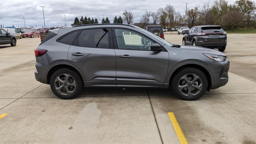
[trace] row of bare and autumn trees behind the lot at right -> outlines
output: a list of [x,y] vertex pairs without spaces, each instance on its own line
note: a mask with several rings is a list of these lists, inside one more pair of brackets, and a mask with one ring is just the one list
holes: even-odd
[[212,5],[209,2],[204,3],[202,7],[196,5],[187,9],[187,14],[181,15],[173,5],[166,4],[156,12],[145,11],[140,22],[134,23],[140,27],[151,24],[160,24],[164,28],[209,24],[221,25],[226,30],[256,28],[256,5],[255,1],[251,0],[237,0],[233,4],[228,4],[226,0],[215,0]]

